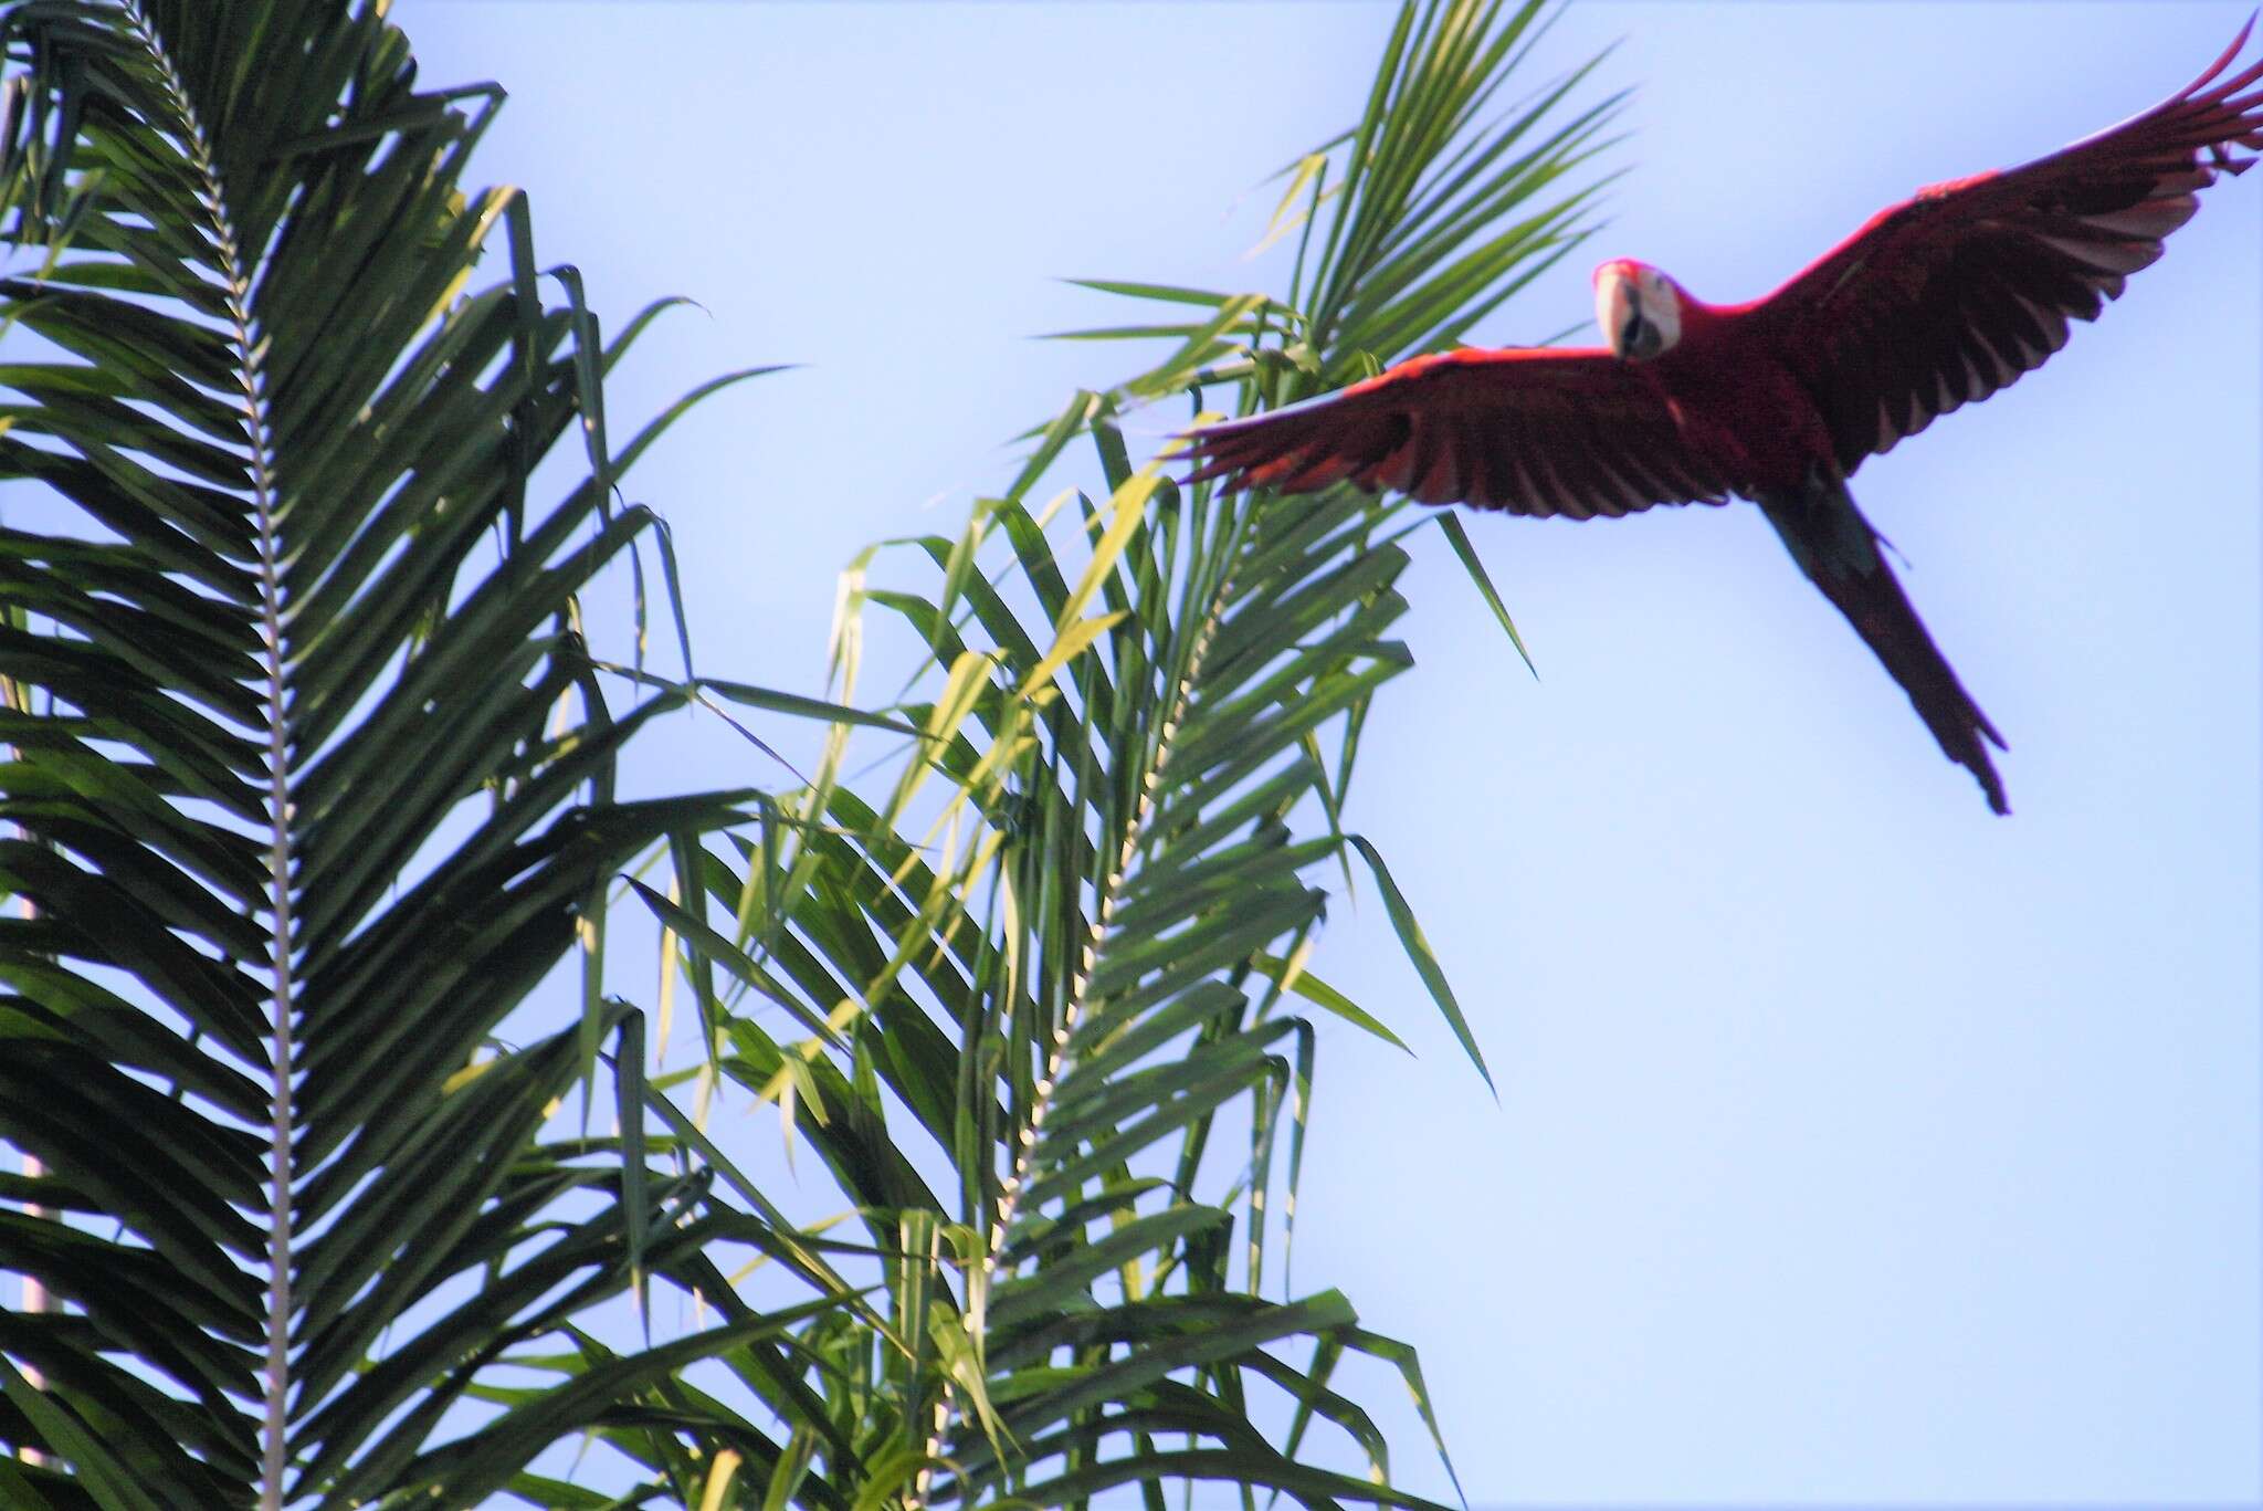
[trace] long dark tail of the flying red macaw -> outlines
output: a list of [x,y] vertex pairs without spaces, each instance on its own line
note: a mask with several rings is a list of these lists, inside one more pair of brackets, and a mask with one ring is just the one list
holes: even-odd
[[2003,779],[1980,741],[1987,736],[1996,750],[2007,745],[1926,634],[1924,621],[1917,618],[1917,609],[1910,607],[1908,594],[1878,550],[1878,532],[1853,507],[1847,480],[1833,469],[1817,469],[1801,487],[1761,492],[1758,505],[1799,562],[1799,571],[1808,573],[1862,643],[1885,661],[1885,671],[1917,705],[1942,752],[1973,775],[1987,793],[1989,809],[2010,813]]

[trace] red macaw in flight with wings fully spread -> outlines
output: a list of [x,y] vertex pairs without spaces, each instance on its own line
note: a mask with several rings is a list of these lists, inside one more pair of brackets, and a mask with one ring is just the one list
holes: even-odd
[[[2096,319],[2263,150],[2256,18],[2191,86],[2023,168],[1917,190],[1749,304],[1704,304],[1618,258],[1595,270],[1607,349],[1462,349],[1335,394],[1190,433],[1193,483],[1331,483],[1509,514],[1761,505],[1996,813],[2003,736],[1933,646],[1847,492],[1862,458],[1987,399]],[[2254,93],[2243,93],[2254,91]]]

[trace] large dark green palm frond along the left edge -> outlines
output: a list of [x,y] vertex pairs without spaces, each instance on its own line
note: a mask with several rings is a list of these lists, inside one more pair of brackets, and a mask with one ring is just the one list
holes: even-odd
[[[708,1178],[645,1169],[634,1074],[622,1139],[543,1142],[640,1015],[496,1040],[597,958],[618,868],[742,813],[616,800],[695,684],[609,707],[577,632],[659,541],[613,489],[677,410],[609,453],[622,342],[459,186],[500,91],[419,93],[382,7],[27,0],[0,41],[0,476],[72,512],[0,528],[0,1139],[36,1171],[0,1269],[59,1303],[0,1314],[9,1484],[466,1504],[788,1325],[434,1448],[505,1350],[704,1273]],[[536,498],[577,424],[588,476]]]

